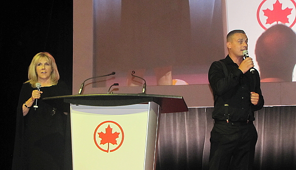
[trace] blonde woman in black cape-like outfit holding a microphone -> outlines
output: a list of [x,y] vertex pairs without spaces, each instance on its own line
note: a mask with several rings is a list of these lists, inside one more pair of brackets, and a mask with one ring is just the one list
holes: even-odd
[[[66,120],[70,107],[62,101],[41,99],[70,95],[69,90],[64,82],[59,81],[55,59],[46,52],[33,58],[28,78],[19,96],[12,169],[63,170]],[[40,91],[37,83],[41,85]]]

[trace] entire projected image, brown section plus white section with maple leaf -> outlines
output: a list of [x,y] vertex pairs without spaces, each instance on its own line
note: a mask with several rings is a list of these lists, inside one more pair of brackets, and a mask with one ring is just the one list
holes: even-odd
[[247,33],[262,82],[296,81],[295,0],[94,0],[93,15],[93,76],[114,71],[121,86],[143,85],[132,71],[147,85],[208,84],[233,29]]

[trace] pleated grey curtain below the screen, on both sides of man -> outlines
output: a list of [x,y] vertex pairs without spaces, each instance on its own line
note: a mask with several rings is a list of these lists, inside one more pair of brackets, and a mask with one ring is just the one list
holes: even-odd
[[[157,170],[208,169],[213,109],[161,114]],[[295,170],[296,106],[263,107],[254,124],[259,135],[256,170]]]

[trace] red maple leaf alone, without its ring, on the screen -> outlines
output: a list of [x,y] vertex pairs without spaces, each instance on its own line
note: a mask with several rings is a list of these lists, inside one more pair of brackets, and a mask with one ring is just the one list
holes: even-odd
[[273,4],[273,10],[265,9],[263,10],[264,16],[268,17],[266,20],[266,24],[272,24],[276,22],[281,22],[283,24],[289,23],[288,15],[291,14],[292,8],[286,8],[282,10],[282,3],[279,0]]

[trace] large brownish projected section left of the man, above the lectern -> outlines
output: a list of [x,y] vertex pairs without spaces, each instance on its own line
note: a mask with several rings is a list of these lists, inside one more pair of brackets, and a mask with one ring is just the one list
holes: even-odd
[[[120,85],[208,84],[224,56],[220,0],[95,0],[94,73]],[[98,87],[105,82],[96,83]]]

